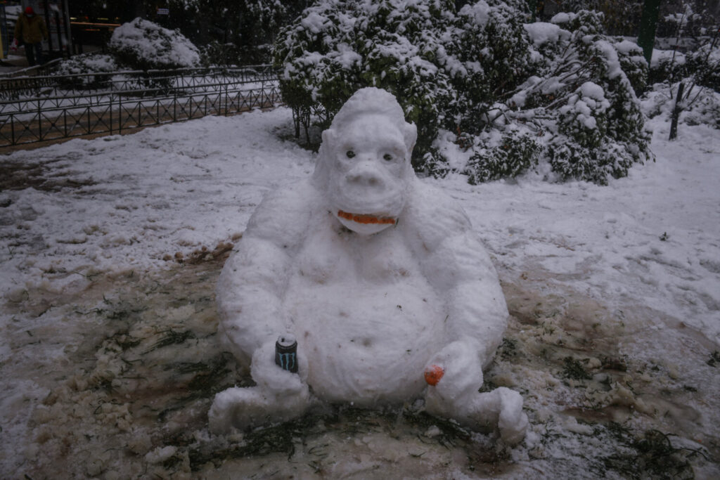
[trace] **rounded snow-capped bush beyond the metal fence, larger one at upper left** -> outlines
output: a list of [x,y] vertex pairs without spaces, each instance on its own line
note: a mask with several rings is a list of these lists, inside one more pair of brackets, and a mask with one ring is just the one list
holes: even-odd
[[180,32],[136,18],[112,32],[109,48],[128,68],[153,70],[198,65],[197,47]]

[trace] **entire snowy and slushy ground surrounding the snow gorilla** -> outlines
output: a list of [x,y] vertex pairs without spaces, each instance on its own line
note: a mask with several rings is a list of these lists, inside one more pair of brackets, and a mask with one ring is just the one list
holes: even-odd
[[516,448],[418,405],[207,433],[248,381],[217,275],[263,194],[313,169],[287,109],[0,157],[0,476],[717,478],[720,131],[652,126],[657,162],[607,187],[430,180],[503,282],[486,379],[525,398]]

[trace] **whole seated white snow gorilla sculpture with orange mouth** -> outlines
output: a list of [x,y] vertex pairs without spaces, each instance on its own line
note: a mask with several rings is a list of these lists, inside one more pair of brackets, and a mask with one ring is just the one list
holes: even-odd
[[[459,205],[415,177],[416,137],[394,96],[361,89],[312,178],[258,206],[217,287],[220,335],[257,386],[217,394],[211,430],[424,394],[433,415],[522,440],[520,394],[478,392],[508,317],[497,273]],[[286,332],[298,373],[275,364]]]

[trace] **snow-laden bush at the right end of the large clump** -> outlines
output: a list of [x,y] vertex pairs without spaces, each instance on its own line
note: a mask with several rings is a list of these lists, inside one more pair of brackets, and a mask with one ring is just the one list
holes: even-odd
[[[606,184],[610,177],[626,176],[633,163],[652,158],[640,104],[618,54],[633,50],[598,33],[596,12],[560,15],[553,22],[572,35],[565,54],[550,59],[554,65],[546,78],[532,87],[553,99],[540,103],[544,113],[557,115],[557,127],[549,126],[554,135],[546,158],[562,178]],[[631,64],[642,68],[639,61]]]

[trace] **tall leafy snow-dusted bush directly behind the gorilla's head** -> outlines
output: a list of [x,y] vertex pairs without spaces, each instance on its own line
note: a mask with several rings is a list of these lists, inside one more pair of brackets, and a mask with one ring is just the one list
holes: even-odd
[[284,101],[298,119],[312,111],[329,124],[361,86],[387,89],[418,125],[422,157],[454,100],[440,65],[453,9],[447,0],[335,0],[306,9],[275,47]]

